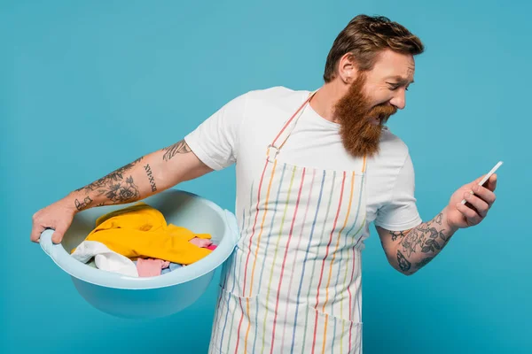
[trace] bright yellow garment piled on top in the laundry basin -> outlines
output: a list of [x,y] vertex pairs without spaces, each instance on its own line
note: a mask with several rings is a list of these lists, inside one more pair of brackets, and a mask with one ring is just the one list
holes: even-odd
[[210,239],[211,235],[167,225],[161,212],[148,204],[137,203],[99,217],[96,228],[85,241],[102,242],[128,258],[159,258],[190,265],[212,251],[189,242],[194,237]]

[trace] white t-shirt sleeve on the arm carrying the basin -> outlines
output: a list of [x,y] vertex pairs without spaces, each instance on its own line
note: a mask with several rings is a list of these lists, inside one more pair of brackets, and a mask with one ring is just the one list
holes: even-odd
[[222,170],[236,162],[239,128],[244,119],[246,94],[232,99],[199,127],[184,137],[184,141],[200,160],[213,170]]

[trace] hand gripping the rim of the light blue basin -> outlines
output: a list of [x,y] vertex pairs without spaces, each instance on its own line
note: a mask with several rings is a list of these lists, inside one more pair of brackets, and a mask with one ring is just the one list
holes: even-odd
[[53,228],[55,231],[51,236],[51,241],[54,243],[61,242],[66,230],[72,224],[76,212],[74,206],[68,206],[64,200],[59,200],[35,212],[30,240],[39,242],[44,229]]

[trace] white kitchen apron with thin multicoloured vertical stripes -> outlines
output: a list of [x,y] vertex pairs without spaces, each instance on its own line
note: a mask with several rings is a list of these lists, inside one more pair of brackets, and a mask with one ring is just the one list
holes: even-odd
[[366,159],[356,171],[278,160],[313,95],[267,148],[223,266],[209,353],[362,353]]

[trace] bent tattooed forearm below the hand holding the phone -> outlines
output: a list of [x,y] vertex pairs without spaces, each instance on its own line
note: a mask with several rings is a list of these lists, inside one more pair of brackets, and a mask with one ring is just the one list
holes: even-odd
[[447,245],[457,231],[440,212],[430,221],[405,231],[389,231],[377,227],[387,260],[399,272],[411,275],[426,266]]

